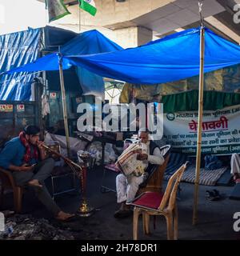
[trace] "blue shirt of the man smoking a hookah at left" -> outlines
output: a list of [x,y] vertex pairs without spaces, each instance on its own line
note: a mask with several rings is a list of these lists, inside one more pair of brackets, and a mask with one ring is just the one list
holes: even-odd
[[[33,152],[34,149],[31,148],[31,151]],[[22,166],[25,153],[26,148],[22,145],[20,138],[12,138],[6,142],[5,147],[0,152],[0,166],[4,169],[8,169],[10,165]],[[37,160],[32,158],[29,164],[33,165],[34,163],[37,163]]]

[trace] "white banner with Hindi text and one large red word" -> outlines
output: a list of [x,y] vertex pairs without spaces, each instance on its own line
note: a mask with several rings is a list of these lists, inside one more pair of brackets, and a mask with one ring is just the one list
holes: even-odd
[[[204,111],[202,116],[202,154],[240,153],[240,105],[223,110]],[[196,155],[198,112],[164,114],[166,143],[176,150]]]

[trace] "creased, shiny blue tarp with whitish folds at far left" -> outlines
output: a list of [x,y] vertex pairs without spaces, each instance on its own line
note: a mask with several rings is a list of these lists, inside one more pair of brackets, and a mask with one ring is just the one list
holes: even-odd
[[[0,36],[1,72],[33,62],[39,56],[41,29],[26,30]],[[30,100],[31,84],[37,74],[4,74],[0,77],[0,100]]]

